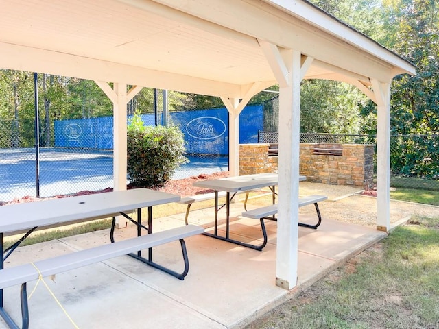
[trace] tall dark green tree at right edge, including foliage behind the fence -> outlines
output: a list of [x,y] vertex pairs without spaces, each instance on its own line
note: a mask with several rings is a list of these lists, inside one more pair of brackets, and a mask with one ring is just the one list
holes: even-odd
[[394,79],[391,102],[392,134],[422,134],[395,138],[392,171],[422,178],[439,178],[439,4],[434,0],[386,0],[386,26],[394,25],[388,46],[416,65],[416,75]]

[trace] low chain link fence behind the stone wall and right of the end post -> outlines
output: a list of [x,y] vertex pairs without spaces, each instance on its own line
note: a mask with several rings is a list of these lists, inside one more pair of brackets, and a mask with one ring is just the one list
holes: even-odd
[[[258,143],[278,143],[278,132],[259,131]],[[300,143],[376,145],[377,136],[300,133]],[[390,186],[439,191],[438,149],[439,135],[390,136]]]

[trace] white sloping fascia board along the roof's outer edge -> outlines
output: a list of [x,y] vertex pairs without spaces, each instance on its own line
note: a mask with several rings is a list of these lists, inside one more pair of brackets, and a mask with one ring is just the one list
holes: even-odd
[[389,62],[394,66],[401,68],[401,73],[416,73],[416,66],[398,56],[396,53],[386,49],[383,45],[380,45],[375,40],[372,40],[368,36],[357,31],[353,27],[342,23],[335,17],[331,16],[327,12],[316,8],[315,5],[308,3],[307,1],[300,0],[263,0],[268,3],[274,3],[281,10],[287,10],[294,16],[304,19],[309,24],[324,30],[325,32],[342,38],[351,45],[355,45],[360,49],[377,56],[385,62]]

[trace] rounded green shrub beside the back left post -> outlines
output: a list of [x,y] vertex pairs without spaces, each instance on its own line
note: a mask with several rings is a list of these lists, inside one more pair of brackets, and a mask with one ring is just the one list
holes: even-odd
[[128,178],[137,187],[163,186],[188,161],[178,127],[145,126],[138,114],[128,125],[127,153]]

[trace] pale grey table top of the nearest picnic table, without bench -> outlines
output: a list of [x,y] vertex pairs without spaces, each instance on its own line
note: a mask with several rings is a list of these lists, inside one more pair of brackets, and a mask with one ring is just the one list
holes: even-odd
[[86,221],[119,215],[137,208],[178,202],[179,195],[136,188],[39,202],[0,206],[0,232],[16,232],[35,226]]

